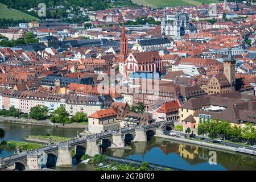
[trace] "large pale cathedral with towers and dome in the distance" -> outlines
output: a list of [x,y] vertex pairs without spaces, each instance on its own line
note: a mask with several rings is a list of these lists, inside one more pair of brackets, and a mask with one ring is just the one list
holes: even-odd
[[182,36],[184,34],[196,34],[196,27],[189,23],[188,14],[184,13],[184,11],[179,13],[176,10],[174,22],[169,22],[166,16],[166,9],[164,9],[161,31],[162,36]]

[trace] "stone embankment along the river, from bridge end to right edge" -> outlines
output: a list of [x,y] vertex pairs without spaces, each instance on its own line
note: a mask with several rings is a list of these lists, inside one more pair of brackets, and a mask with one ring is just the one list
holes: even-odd
[[167,135],[155,135],[155,137],[176,140],[179,142],[197,144],[199,146],[205,146],[205,147],[210,147],[210,148],[217,148],[217,149],[224,150],[224,151],[227,150],[227,151],[233,151],[233,152],[241,152],[241,153],[250,154],[250,155],[256,155],[256,151],[253,151],[253,150],[224,146],[222,144],[199,142],[197,140],[191,140],[191,139],[186,139],[186,138],[181,138],[181,137],[171,137],[171,136],[167,136]]

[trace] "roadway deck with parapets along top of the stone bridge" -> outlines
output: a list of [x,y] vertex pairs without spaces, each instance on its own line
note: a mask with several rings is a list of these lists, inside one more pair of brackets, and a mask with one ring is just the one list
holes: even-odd
[[[118,132],[121,133],[129,133],[130,131],[134,131],[135,129],[151,129],[153,127],[159,127],[162,124],[164,125],[170,125],[174,123],[173,121],[170,122],[158,122],[152,125],[141,125],[141,126],[136,126],[136,127],[130,127],[130,128],[125,128],[125,129],[121,129]],[[13,154],[13,155],[9,155],[9,156],[5,156],[3,158],[0,158],[0,168],[5,167],[5,166],[9,166],[8,164],[11,163],[15,163],[21,159],[26,159],[27,155],[29,154],[37,154],[38,152],[45,152],[46,154],[52,151],[56,151],[58,150],[58,148],[61,147],[65,147],[68,146],[70,148],[72,148],[73,146],[77,146],[79,144],[85,143],[87,141],[87,139],[104,139],[104,138],[108,138],[108,137],[112,137],[113,133],[117,133],[117,131],[109,131],[109,132],[105,132],[105,133],[100,133],[100,134],[93,134],[93,135],[88,135],[86,137],[81,137],[81,138],[75,138],[72,140],[68,140],[67,142],[60,142],[57,146],[56,145],[49,145],[46,147],[42,147],[42,148],[38,148],[38,150],[34,150],[34,151],[27,151],[27,152],[20,152],[20,154]]]

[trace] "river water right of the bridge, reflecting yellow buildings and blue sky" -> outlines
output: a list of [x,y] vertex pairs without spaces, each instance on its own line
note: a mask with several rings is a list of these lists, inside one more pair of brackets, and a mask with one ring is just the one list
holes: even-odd
[[216,151],[217,164],[209,164],[209,148],[191,146],[186,143],[171,142],[152,138],[148,142],[131,143],[131,150],[104,151],[106,155],[147,161],[168,167],[186,170],[255,170],[256,158],[250,155],[227,151]]

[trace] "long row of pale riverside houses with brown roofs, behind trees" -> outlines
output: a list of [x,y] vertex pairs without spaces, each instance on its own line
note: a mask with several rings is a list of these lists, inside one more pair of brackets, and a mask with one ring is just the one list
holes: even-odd
[[29,113],[32,107],[42,105],[48,108],[49,113],[53,113],[58,107],[63,106],[70,115],[74,115],[77,112],[91,115],[98,110],[108,109],[112,104],[113,100],[105,97],[105,101],[103,101],[101,97],[28,92],[0,88],[0,109],[9,110],[11,106],[14,106],[23,113]]

